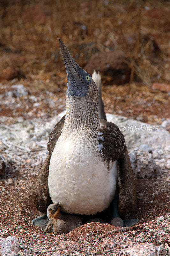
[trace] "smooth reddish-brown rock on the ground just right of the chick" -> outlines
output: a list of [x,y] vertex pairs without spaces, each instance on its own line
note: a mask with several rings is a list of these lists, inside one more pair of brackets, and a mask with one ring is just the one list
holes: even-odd
[[90,231],[97,232],[99,230],[100,233],[102,232],[103,234],[105,234],[114,229],[115,226],[112,226],[107,223],[91,222],[73,229],[67,234],[67,237],[71,239],[76,239],[77,237],[85,237],[86,234]]

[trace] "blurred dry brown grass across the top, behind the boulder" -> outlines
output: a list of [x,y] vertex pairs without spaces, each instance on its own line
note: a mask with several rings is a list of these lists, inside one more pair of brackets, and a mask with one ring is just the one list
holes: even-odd
[[24,56],[17,65],[29,77],[63,70],[60,37],[81,66],[95,51],[122,50],[130,82],[170,82],[168,1],[4,0],[0,5],[0,69],[11,65],[5,54],[12,51]]

